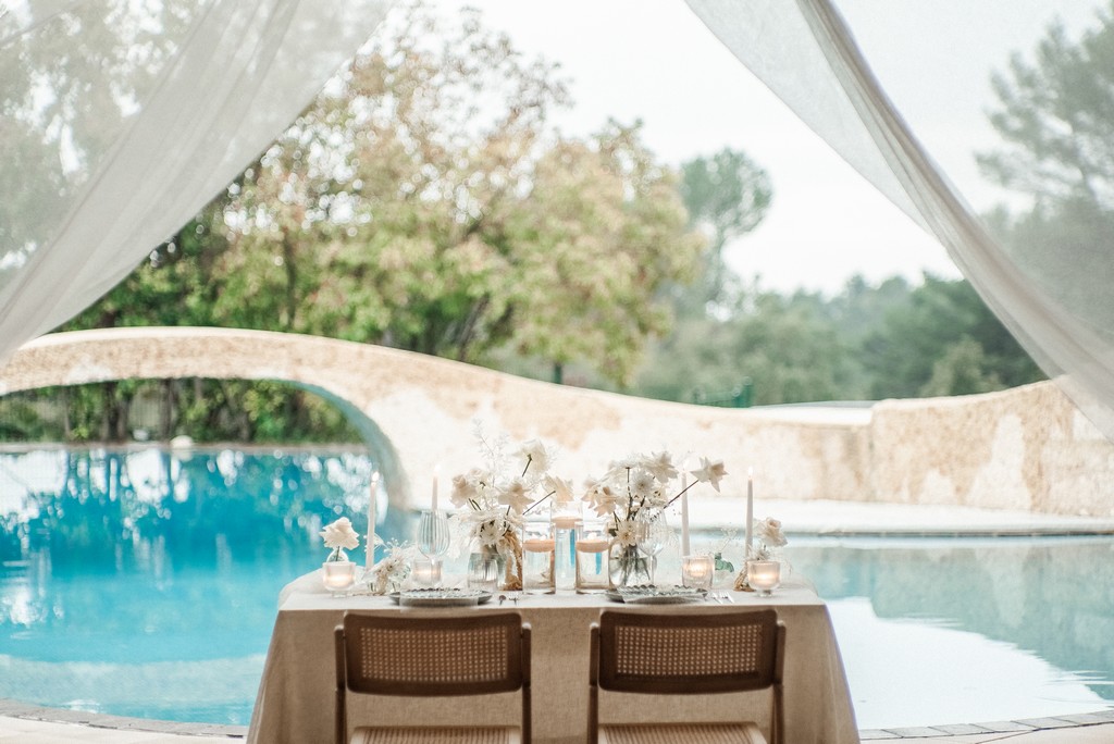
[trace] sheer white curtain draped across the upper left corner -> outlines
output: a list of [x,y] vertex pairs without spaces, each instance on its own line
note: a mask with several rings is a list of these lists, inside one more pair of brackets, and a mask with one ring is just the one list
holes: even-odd
[[389,6],[0,6],[0,363],[95,302],[197,214]]

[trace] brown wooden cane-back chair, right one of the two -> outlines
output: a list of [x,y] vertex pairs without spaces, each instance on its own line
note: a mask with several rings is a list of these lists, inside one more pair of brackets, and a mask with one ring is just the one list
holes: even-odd
[[754,722],[599,725],[599,689],[705,695],[770,689],[770,741],[781,744],[785,626],[772,609],[730,614],[604,611],[592,626],[588,741],[593,744],[765,744]]

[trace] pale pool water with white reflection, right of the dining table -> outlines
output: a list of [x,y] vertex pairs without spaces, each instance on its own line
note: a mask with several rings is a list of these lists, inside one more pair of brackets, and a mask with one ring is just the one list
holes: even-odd
[[1114,702],[1114,538],[797,536],[786,552],[829,601],[861,727]]

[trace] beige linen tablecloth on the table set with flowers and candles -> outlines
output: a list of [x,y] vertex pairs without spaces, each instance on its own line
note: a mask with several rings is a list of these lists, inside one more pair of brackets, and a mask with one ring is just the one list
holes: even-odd
[[[773,597],[733,593],[735,605],[634,606],[639,611],[729,611],[772,607],[786,627],[784,705],[786,744],[844,744],[859,741],[854,712],[828,608],[803,584],[782,587]],[[385,597],[334,598],[319,571],[287,585],[280,598],[271,647],[247,741],[258,744],[317,744],[332,741],[333,628],[345,610],[403,615],[447,611],[517,610],[532,627],[531,682],[534,741],[584,742],[587,736],[588,648],[592,623],[603,609],[623,605],[603,595],[524,595],[517,604],[491,603],[471,609],[400,609]],[[632,606],[626,606],[629,608]],[[516,724],[518,695],[442,697],[350,696],[350,721],[385,725]],[[692,697],[600,693],[600,721],[737,721],[747,717],[769,730],[766,693]]]

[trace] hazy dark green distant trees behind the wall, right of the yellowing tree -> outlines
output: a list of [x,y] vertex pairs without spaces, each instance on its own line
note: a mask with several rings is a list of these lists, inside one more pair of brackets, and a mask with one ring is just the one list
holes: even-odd
[[686,319],[655,346],[638,392],[692,401],[744,378],[755,404],[964,395],[1044,374],[964,280],[851,278],[834,297],[756,285],[727,317]]

